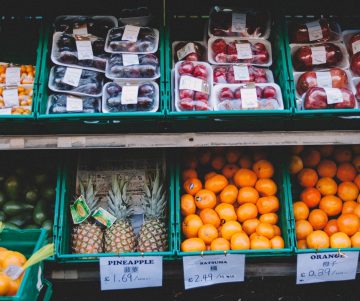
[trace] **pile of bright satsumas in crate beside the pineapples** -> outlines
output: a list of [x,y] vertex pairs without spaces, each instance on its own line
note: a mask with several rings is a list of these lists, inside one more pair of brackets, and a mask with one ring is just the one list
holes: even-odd
[[[249,152],[250,153],[250,152]],[[267,154],[202,149],[184,157],[183,252],[284,248],[274,166]]]

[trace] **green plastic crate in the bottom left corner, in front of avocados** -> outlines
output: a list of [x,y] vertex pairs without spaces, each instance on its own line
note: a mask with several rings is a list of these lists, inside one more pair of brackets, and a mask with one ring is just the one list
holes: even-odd
[[[38,251],[46,241],[44,229],[34,230],[10,230],[4,229],[0,234],[0,247],[5,247],[12,251],[21,252],[29,258]],[[43,264],[38,263],[26,270],[20,288],[15,296],[0,297],[1,301],[30,301],[37,300],[40,289],[37,288],[39,280],[39,269],[43,271]]]

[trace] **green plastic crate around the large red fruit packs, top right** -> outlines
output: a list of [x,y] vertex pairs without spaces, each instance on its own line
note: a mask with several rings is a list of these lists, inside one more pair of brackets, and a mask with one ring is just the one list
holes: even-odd
[[[306,15],[307,17],[314,17],[316,18],[320,18],[320,15]],[[296,16],[292,16],[292,15],[286,15],[283,18],[283,22],[282,22],[282,31],[283,31],[283,36],[284,36],[284,47],[285,47],[285,52],[286,52],[286,60],[287,60],[287,67],[288,67],[288,74],[290,77],[290,88],[291,88],[291,92],[290,92],[290,101],[291,101],[291,105],[293,107],[294,110],[294,117],[296,119],[300,118],[311,118],[311,119],[315,119],[315,118],[334,118],[334,117],[343,117],[343,116],[358,116],[360,114],[360,108],[357,109],[322,109],[322,110],[302,110],[299,109],[296,103],[296,87],[295,87],[295,81],[294,81],[294,76],[293,76],[293,65],[292,65],[292,59],[291,59],[291,53],[290,53],[290,40],[289,40],[289,32],[288,32],[288,22],[294,21],[296,19],[301,19],[303,18],[303,15],[296,15]],[[324,17],[324,16],[323,16]],[[326,16],[325,16],[326,17]],[[331,19],[331,16],[328,16]],[[345,18],[346,20],[346,18]],[[341,23],[342,25],[342,23]],[[350,25],[348,25],[350,26]],[[353,27],[354,28],[354,27]],[[358,27],[357,27],[358,28]],[[344,28],[341,28],[342,30],[344,30]],[[351,78],[349,78],[349,80],[351,81]]]

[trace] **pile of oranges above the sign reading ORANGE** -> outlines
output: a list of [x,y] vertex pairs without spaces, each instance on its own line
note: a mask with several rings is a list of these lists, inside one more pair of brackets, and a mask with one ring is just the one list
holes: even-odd
[[296,146],[290,173],[297,247],[360,247],[360,146]]

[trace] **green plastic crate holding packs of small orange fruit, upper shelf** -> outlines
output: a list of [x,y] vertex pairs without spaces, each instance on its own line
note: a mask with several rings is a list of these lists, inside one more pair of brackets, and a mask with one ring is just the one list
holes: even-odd
[[[43,48],[42,17],[0,17],[0,39],[6,41],[0,47],[2,62],[32,64],[36,66],[33,87],[32,113],[29,115],[0,115],[0,122],[35,119],[39,97],[41,55]],[[15,36],[14,36],[15,35]]]

